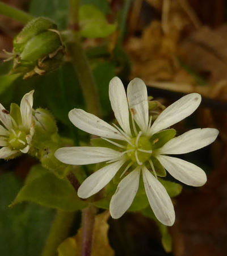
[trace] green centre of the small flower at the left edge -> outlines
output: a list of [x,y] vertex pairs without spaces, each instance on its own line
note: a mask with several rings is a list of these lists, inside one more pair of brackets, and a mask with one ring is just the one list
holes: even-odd
[[27,145],[26,140],[27,134],[24,131],[12,130],[12,133],[9,136],[9,144],[12,149],[20,150]]

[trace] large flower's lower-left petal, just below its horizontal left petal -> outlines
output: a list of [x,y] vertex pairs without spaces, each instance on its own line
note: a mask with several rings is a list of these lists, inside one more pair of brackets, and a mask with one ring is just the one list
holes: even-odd
[[77,192],[78,196],[87,198],[99,192],[112,180],[113,176],[115,176],[117,171],[123,166],[124,162],[124,160],[119,160],[91,174],[79,187]]

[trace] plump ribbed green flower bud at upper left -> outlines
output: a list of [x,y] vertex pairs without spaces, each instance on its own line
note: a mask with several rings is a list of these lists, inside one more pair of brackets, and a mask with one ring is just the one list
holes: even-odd
[[61,65],[64,53],[56,24],[48,18],[33,19],[14,39],[10,73],[22,73],[24,79],[44,75]]

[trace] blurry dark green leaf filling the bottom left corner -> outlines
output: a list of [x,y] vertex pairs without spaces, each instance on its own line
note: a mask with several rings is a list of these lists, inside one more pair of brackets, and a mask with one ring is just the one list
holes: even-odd
[[14,174],[0,179],[0,255],[39,256],[51,226],[54,210],[26,203],[8,205],[22,187]]

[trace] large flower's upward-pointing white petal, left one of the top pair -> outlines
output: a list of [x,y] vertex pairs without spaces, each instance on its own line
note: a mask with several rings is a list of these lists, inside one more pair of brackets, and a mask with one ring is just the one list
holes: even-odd
[[128,101],[124,85],[118,77],[113,77],[110,81],[109,97],[117,122],[125,133],[130,136],[131,129],[129,125]]

